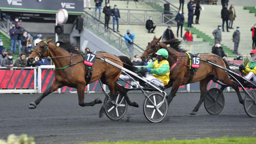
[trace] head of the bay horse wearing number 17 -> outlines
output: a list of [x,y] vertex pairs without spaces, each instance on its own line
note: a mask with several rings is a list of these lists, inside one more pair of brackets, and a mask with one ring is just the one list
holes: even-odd
[[28,60],[30,63],[36,63],[38,60],[42,58],[46,58],[48,56],[48,50],[49,50],[49,42],[52,41],[52,39],[49,40],[41,40],[36,46],[31,55],[29,55]]

